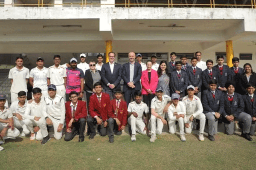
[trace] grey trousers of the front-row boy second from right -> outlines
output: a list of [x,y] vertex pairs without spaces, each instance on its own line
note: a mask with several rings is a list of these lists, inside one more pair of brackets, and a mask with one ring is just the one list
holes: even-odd
[[[225,118],[224,118],[225,119]],[[244,112],[241,112],[239,114],[239,116],[236,118],[236,120],[238,120],[239,122],[242,123],[243,125],[243,133],[249,133],[250,132],[250,126],[252,124],[252,117]],[[234,121],[230,122],[230,124],[228,123],[224,123],[224,127],[225,127],[225,133],[227,135],[233,135],[234,133]]]

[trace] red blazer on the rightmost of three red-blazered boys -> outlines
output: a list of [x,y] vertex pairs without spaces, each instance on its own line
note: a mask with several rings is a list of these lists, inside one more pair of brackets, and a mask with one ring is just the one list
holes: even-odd
[[117,111],[117,117],[115,115],[115,111],[116,111],[116,99],[111,100],[110,102],[110,106],[108,107],[108,117],[112,117],[112,118],[117,118],[121,124],[118,126],[118,130],[121,129],[122,125],[126,125],[126,120],[127,120],[127,105],[126,102],[121,100],[120,104],[119,104],[119,109]]

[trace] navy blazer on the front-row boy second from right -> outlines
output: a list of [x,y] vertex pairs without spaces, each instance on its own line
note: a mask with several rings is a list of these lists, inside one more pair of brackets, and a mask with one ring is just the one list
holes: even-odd
[[224,111],[222,112],[223,116],[223,122],[224,123],[230,123],[225,116],[226,115],[233,115],[235,117],[238,117],[241,112],[244,111],[244,101],[241,94],[234,93],[233,96],[233,102],[230,104],[230,101],[228,100],[227,93],[223,93],[223,99],[224,99]]

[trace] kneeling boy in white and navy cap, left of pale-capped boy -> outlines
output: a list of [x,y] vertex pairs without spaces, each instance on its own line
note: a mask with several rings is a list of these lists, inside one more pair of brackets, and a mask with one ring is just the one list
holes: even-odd
[[154,142],[157,139],[156,134],[161,134],[163,125],[167,125],[167,121],[164,119],[164,114],[167,112],[167,108],[172,100],[170,96],[163,94],[163,88],[157,87],[157,96],[151,100],[151,138],[150,142]]

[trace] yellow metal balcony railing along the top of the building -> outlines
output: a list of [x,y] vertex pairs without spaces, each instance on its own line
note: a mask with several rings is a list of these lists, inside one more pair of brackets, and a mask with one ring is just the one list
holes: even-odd
[[[22,1],[20,1],[22,2]],[[31,1],[30,1],[31,2]],[[99,3],[100,0],[63,0],[60,4],[49,3],[49,0],[35,0],[35,3],[12,3],[2,6],[29,6],[29,7],[201,7],[201,8],[256,8],[256,0],[116,0],[113,4]]]

